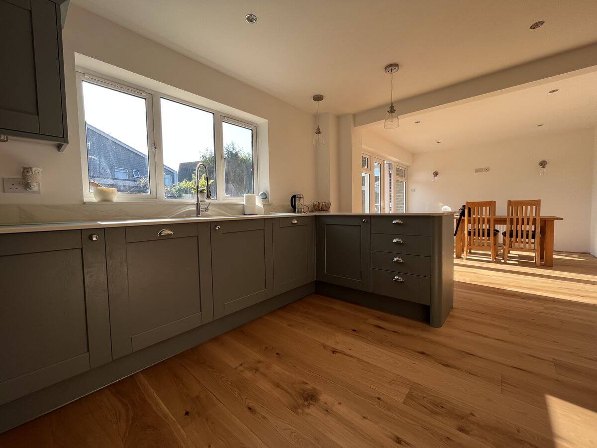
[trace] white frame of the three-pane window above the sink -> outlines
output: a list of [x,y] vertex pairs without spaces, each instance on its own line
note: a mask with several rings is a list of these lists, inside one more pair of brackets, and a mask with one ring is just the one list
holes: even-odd
[[83,194],[85,202],[94,202],[93,193],[89,191],[89,168],[87,165],[87,136],[85,131],[85,108],[83,102],[83,88],[82,82],[91,82],[92,84],[101,85],[102,87],[109,87],[123,93],[134,94],[146,99],[146,118],[147,118],[147,148],[149,148],[149,194],[143,193],[118,193],[116,201],[140,201],[140,202],[165,202],[170,203],[194,203],[195,200],[190,199],[167,199],[165,198],[164,188],[164,153],[162,146],[162,115],[160,99],[164,98],[171,100],[192,108],[200,109],[201,111],[210,112],[214,115],[214,160],[216,162],[216,179],[217,182],[217,200],[213,202],[243,202],[242,196],[226,196],[224,184],[224,145],[223,145],[223,131],[222,123],[229,122],[237,126],[245,127],[253,131],[253,191],[258,193],[259,190],[259,148],[258,125],[231,116],[228,113],[223,113],[215,109],[210,109],[171,95],[161,93],[159,91],[141,88],[139,86],[130,84],[119,79],[112,78],[99,73],[91,72],[90,70],[76,67],[77,78],[77,100],[79,107],[79,140],[81,142],[81,169],[83,174]]

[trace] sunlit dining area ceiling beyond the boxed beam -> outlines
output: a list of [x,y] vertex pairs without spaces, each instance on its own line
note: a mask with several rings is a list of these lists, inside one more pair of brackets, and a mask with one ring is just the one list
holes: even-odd
[[[550,90],[559,89],[555,93]],[[416,121],[420,123],[416,124]],[[537,127],[538,124],[543,126]],[[413,154],[484,145],[597,124],[597,71],[365,127]],[[441,142],[441,143],[436,143]]]

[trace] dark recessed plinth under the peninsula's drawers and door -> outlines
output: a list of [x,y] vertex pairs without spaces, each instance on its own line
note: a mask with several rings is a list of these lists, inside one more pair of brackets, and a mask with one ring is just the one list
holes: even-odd
[[316,283],[315,292],[324,296],[334,297],[334,299],[346,300],[346,302],[367,306],[367,308],[377,309],[378,311],[398,314],[426,323],[429,323],[430,320],[429,305],[393,299],[392,297],[380,296],[379,294],[337,286],[322,281]]

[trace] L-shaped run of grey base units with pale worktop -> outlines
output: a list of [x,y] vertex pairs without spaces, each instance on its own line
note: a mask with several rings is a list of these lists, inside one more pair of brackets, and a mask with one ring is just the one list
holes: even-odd
[[318,292],[441,327],[453,213],[0,226],[0,432]]

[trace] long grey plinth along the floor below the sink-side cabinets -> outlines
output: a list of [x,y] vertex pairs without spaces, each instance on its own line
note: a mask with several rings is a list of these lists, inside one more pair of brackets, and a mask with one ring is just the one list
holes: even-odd
[[315,282],[0,406],[0,434],[315,292]]

